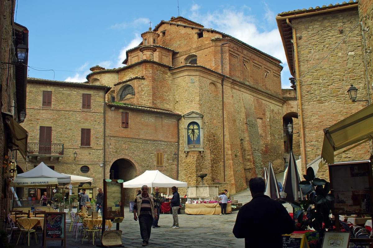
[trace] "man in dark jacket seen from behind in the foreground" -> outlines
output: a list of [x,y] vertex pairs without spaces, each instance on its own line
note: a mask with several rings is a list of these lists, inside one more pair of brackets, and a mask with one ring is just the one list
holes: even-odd
[[239,210],[233,234],[245,238],[245,248],[281,248],[281,235],[294,231],[294,221],[281,203],[264,195],[263,178],[251,178],[249,187],[253,199]]

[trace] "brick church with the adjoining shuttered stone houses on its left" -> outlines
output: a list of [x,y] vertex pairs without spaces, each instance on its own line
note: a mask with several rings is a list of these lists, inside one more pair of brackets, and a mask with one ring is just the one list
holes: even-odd
[[297,106],[282,97],[279,59],[180,16],[141,37],[125,66],[94,66],[85,83],[28,79],[21,172],[44,161],[92,187],[145,170],[194,186],[207,173],[235,193],[269,162],[283,170],[283,116]]

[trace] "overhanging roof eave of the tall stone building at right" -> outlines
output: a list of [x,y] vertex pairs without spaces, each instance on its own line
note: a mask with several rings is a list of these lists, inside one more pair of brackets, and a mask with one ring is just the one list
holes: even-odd
[[323,13],[328,13],[332,11],[338,11],[338,10],[344,10],[344,9],[350,9],[350,8],[357,8],[358,1],[350,0],[347,2],[343,2],[342,4],[336,3],[335,5],[329,4],[328,6],[323,5],[322,7],[316,6],[316,7],[310,7],[308,9],[298,9],[298,10],[291,10],[279,13],[276,16],[277,26],[280,32],[280,36],[282,39],[282,45],[285,49],[285,55],[286,60],[288,61],[288,66],[290,73],[295,77],[295,71],[294,71],[294,54],[293,54],[293,34],[292,34],[292,28],[288,25],[286,22],[286,19],[289,19],[289,22],[291,22],[291,19],[294,18],[301,18],[304,16],[311,16],[311,15],[319,15]]

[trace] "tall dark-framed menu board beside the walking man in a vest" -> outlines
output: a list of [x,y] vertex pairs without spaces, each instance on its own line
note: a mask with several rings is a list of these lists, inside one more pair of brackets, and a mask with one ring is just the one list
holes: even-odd
[[114,220],[124,218],[123,180],[104,180],[104,218]]

